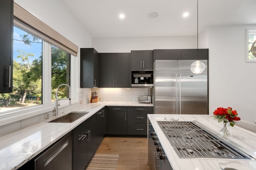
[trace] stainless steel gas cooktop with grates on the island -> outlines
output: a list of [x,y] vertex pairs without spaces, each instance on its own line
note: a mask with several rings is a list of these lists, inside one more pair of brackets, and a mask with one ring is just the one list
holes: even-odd
[[250,160],[251,156],[192,121],[158,121],[180,158]]

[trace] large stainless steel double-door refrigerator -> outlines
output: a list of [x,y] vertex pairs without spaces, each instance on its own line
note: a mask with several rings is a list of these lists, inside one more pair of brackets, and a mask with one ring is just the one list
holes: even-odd
[[154,63],[154,113],[208,114],[208,62],[194,74],[196,60],[156,60]]

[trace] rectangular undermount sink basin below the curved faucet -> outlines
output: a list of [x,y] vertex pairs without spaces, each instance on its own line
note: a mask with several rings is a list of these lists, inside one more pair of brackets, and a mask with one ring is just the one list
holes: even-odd
[[54,119],[52,121],[49,122],[54,122],[54,123],[72,123],[73,121],[76,121],[77,119],[79,119],[80,117],[86,115],[87,113],[89,113],[89,111],[75,111],[75,112],[71,112],[68,113],[62,117],[59,117],[57,119]]

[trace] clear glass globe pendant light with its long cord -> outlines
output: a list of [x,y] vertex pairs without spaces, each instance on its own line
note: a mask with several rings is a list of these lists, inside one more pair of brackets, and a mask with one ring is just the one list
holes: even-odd
[[191,64],[190,70],[195,74],[200,74],[204,71],[205,64],[202,61],[198,61],[198,0],[197,0],[197,61]]

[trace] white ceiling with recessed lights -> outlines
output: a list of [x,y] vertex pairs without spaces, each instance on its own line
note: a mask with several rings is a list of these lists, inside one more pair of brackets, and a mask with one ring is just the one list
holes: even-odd
[[[196,35],[197,0],[60,0],[92,37]],[[198,30],[256,24],[256,0],[198,0]],[[158,12],[158,18],[148,14]],[[187,18],[182,14],[189,12]],[[125,14],[120,20],[119,14]]]

